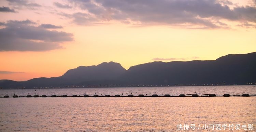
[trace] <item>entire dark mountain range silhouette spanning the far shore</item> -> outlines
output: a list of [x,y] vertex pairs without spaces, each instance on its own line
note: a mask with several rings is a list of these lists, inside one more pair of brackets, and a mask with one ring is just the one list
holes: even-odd
[[18,82],[0,80],[1,88],[56,86],[122,87],[126,85],[204,85],[256,83],[256,52],[226,55],[216,60],[151,62],[125,70],[119,63],[80,66],[60,77]]

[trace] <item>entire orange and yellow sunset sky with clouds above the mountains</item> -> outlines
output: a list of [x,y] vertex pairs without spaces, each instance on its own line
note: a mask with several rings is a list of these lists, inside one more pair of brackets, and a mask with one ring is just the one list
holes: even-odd
[[256,0],[1,0],[0,79],[256,51]]

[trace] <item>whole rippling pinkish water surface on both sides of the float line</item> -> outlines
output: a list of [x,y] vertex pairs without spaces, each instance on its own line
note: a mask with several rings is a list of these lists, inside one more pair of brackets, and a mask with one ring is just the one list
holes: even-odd
[[[216,91],[214,91],[215,89]],[[51,94],[255,94],[253,86],[38,89]],[[0,90],[1,95],[27,90]],[[10,104],[10,106],[9,106]],[[178,131],[178,124],[254,124],[256,97],[0,98],[0,131]],[[191,129],[189,129],[191,131]],[[210,131],[210,129],[207,129]],[[184,131],[184,130],[179,130]],[[228,130],[225,130],[228,131]]]

